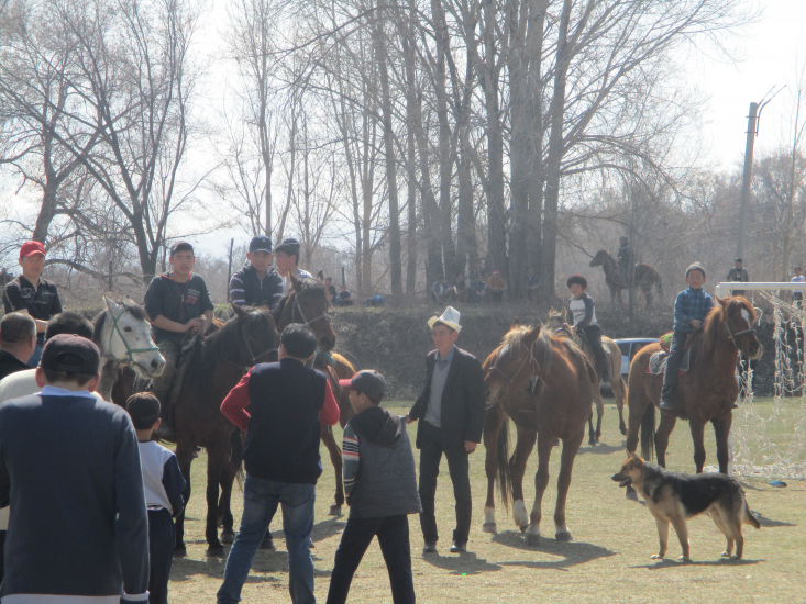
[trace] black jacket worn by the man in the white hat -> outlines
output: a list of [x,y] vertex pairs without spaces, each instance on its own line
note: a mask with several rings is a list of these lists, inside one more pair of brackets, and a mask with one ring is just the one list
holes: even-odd
[[[417,398],[409,417],[421,420],[426,416],[431,398],[431,377],[437,363],[437,350],[426,359],[426,383]],[[482,363],[470,353],[456,348],[451,369],[442,391],[441,439],[443,450],[462,449],[465,440],[482,441],[484,428],[484,372]],[[422,421],[424,422],[424,420]],[[417,448],[420,448],[422,422],[417,426]]]

